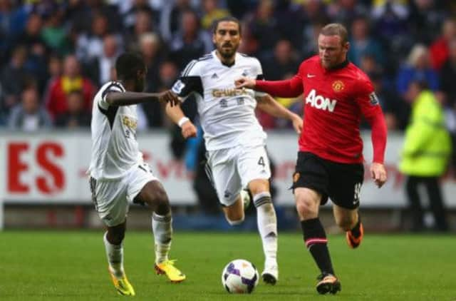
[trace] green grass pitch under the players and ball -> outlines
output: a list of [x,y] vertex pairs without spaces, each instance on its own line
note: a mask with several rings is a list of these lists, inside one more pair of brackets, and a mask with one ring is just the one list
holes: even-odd
[[[0,300],[119,300],[107,272],[102,231],[0,232]],[[187,274],[180,284],[152,271],[152,234],[128,232],[125,270],[136,300],[456,300],[456,237],[369,235],[358,250],[342,235],[329,247],[342,291],[320,296],[316,266],[299,233],[279,234],[280,277],[252,295],[229,295],[224,265],[243,258],[263,267],[257,233],[177,232],[171,257]]]

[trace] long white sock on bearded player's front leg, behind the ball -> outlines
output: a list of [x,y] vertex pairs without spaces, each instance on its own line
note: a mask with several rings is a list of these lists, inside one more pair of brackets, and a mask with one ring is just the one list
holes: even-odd
[[269,192],[254,195],[254,205],[257,208],[258,231],[263,243],[266,261],[277,258],[277,218]]

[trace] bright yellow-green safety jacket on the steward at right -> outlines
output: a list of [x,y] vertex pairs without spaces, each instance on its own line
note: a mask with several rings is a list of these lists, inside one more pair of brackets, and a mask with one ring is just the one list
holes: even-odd
[[442,107],[432,92],[423,91],[412,104],[399,169],[406,175],[440,176],[450,153],[451,139]]

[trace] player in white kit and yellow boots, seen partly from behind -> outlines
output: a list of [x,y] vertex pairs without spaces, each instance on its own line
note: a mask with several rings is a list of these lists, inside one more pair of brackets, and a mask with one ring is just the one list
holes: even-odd
[[155,237],[155,272],[172,282],[185,280],[168,259],[172,239],[170,202],[160,180],[142,160],[136,141],[136,104],[146,101],[179,102],[170,92],[142,93],[147,72],[142,58],[123,53],[115,62],[118,81],[105,83],[95,95],[92,108],[92,158],[90,190],[92,200],[107,228],[103,241],[108,270],[121,295],[135,295],[123,269],[123,238],[130,202],[152,209]]

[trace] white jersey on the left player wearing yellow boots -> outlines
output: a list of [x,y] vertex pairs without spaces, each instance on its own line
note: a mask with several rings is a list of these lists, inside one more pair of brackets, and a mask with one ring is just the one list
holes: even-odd
[[92,157],[88,173],[97,180],[120,178],[133,165],[142,163],[136,141],[136,105],[110,106],[106,102],[110,91],[125,92],[125,88],[118,81],[110,81],[93,98]]

